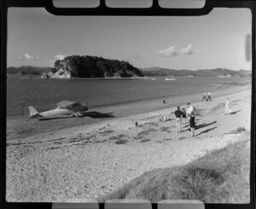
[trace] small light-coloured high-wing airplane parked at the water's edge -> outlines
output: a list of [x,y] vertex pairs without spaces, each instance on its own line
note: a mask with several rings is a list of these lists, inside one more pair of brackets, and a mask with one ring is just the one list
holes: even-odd
[[60,115],[73,115],[73,117],[79,118],[83,116],[83,113],[88,110],[88,103],[71,102],[64,100],[56,104],[55,109],[38,113],[35,107],[29,106],[29,118],[40,119],[40,118],[52,118]]

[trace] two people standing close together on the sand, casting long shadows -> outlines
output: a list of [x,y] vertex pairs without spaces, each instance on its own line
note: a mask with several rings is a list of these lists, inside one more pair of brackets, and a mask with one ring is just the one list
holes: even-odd
[[180,109],[179,106],[177,106],[177,110],[174,112],[176,117],[176,132],[180,132],[180,126],[183,122],[183,118],[189,119],[189,125],[190,125],[190,131],[191,136],[194,136],[194,130],[196,129],[195,126],[195,107],[193,107],[190,103],[187,103],[187,109],[185,110]]

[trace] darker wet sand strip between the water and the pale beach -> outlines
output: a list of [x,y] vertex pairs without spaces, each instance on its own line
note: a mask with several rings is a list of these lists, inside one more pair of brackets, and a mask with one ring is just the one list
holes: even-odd
[[[212,90],[212,100],[220,96],[230,96],[231,94],[250,90],[250,86],[231,86]],[[166,104],[163,104],[166,100]],[[201,93],[195,93],[189,96],[161,97],[140,102],[128,102],[118,105],[90,108],[85,116],[75,119],[70,116],[56,119],[26,119],[23,116],[7,117],[7,141],[24,138],[27,136],[38,135],[44,132],[57,131],[61,129],[75,128],[81,125],[96,125],[101,122],[108,122],[114,119],[127,116],[137,116],[143,113],[152,113],[166,108],[182,106],[187,102],[201,102]],[[50,125],[49,125],[50,123]]]

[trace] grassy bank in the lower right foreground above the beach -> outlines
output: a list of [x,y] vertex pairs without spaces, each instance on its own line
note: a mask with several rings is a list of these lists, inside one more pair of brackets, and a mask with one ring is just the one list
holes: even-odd
[[187,165],[148,171],[99,199],[201,200],[248,203],[249,139],[206,154]]

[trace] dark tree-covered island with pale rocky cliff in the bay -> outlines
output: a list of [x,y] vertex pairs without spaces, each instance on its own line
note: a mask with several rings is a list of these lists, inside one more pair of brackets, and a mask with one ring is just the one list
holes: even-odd
[[55,61],[51,73],[44,78],[109,78],[143,77],[143,73],[127,61],[109,60],[97,56],[71,55]]

